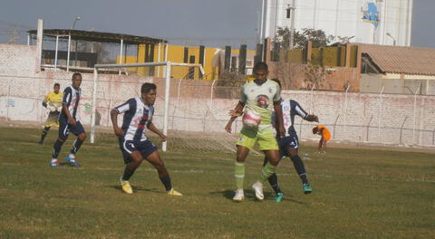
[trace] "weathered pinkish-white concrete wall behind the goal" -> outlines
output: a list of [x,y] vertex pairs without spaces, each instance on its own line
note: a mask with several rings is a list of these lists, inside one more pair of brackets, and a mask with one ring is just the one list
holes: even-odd
[[[61,83],[62,88],[70,84],[73,72],[36,73],[32,69],[34,62],[27,60],[29,54],[34,56],[32,47],[14,49],[12,51],[8,46],[0,45],[0,52],[10,53],[10,58],[3,59],[0,67],[0,120],[34,121],[43,125],[48,114],[41,105],[43,96],[53,89],[54,82]],[[18,71],[20,67],[25,71]],[[79,111],[82,123],[89,125],[93,75],[82,74],[82,77]],[[162,127],[164,80],[117,74],[100,75],[96,107],[101,115],[101,127],[111,125],[111,108],[131,97],[139,96],[140,85],[145,81],[154,81],[158,85],[155,123]],[[172,79],[169,129],[223,132],[228,119],[227,111],[237,104],[239,89],[212,86],[211,81]],[[225,97],[222,98],[223,96]],[[304,110],[317,114],[321,123],[331,130],[333,140],[435,145],[434,96],[418,95],[414,98],[413,95],[345,94],[343,91],[283,91],[283,98],[298,100]],[[296,130],[301,139],[314,137],[310,133],[313,126],[296,119]],[[237,121],[233,129],[237,131],[240,127],[241,124]]]

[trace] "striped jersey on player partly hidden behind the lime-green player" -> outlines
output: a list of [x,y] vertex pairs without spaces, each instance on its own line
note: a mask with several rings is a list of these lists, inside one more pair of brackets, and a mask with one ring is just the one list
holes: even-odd
[[295,134],[295,115],[305,119],[308,113],[299,105],[296,100],[282,100],[281,108],[283,110],[283,123],[285,128],[285,136]]

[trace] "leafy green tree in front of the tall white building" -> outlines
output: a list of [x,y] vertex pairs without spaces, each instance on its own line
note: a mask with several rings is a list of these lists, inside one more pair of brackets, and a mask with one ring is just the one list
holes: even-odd
[[[313,47],[323,47],[333,41],[333,35],[327,35],[323,30],[314,30],[309,28],[302,29],[301,32],[295,32],[294,48],[304,48],[308,41],[313,43]],[[288,27],[278,27],[274,38],[275,48],[288,50],[290,44],[290,29]],[[278,50],[276,49],[276,50]]]

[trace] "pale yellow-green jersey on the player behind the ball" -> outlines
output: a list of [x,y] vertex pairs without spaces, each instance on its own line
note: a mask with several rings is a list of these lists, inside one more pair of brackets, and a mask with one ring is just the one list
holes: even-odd
[[260,124],[271,124],[274,101],[281,100],[279,85],[266,80],[263,84],[255,81],[245,83],[240,93],[240,101],[246,104],[246,110],[254,110],[261,115]]

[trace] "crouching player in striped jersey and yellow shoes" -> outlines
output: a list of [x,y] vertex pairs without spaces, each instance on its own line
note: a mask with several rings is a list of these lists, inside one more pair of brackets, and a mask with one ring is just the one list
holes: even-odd
[[[140,97],[131,98],[125,103],[111,110],[111,123],[113,131],[120,141],[120,149],[124,158],[124,174],[121,177],[121,188],[127,194],[132,194],[130,178],[143,159],[157,169],[160,181],[165,186],[169,196],[182,196],[172,188],[168,170],[160,159],[157,147],[145,135],[145,127],[166,140],[164,135],[152,123],[154,102],[156,101],[156,85],[143,83],[140,88]],[[118,115],[124,113],[122,127],[118,126]]]

